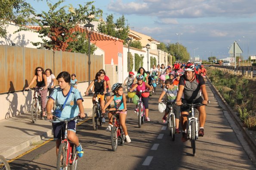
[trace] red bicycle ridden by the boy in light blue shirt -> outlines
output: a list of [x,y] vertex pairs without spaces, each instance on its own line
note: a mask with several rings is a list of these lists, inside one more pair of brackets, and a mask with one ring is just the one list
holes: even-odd
[[62,138],[62,143],[59,146],[59,152],[57,156],[57,170],[77,170],[78,155],[76,152],[76,147],[74,143],[68,140],[68,121],[80,120],[79,116],[69,119],[60,119],[54,116],[54,121],[58,120],[63,122],[64,127],[64,137]]

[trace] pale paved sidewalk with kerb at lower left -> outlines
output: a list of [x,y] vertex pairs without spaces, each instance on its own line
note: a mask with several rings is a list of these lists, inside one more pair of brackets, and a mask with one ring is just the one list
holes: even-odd
[[[84,109],[84,112],[88,118],[93,109]],[[52,135],[52,123],[40,118],[33,123],[30,113],[1,120],[0,129],[0,155],[5,158]]]

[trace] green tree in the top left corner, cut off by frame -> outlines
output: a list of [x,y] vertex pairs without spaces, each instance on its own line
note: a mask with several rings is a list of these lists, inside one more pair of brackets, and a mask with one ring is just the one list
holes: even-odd
[[0,37],[6,36],[9,22],[18,26],[34,23],[35,12],[25,0],[1,0],[0,2]]

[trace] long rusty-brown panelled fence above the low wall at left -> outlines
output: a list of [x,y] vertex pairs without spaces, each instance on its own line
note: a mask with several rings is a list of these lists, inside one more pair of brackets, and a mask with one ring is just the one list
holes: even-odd
[[[23,90],[31,82],[36,67],[49,68],[56,77],[62,71],[75,73],[78,82],[89,78],[85,54],[0,45],[0,94]],[[91,80],[102,68],[103,56],[91,55]]]

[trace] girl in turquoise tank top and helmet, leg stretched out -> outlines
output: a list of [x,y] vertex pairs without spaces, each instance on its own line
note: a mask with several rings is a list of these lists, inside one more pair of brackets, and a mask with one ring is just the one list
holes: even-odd
[[[109,111],[113,111],[113,110],[120,110],[119,112],[119,118],[120,118],[120,124],[123,128],[123,132],[125,134],[125,139],[126,142],[131,142],[130,137],[127,133],[127,128],[125,125],[125,119],[126,119],[126,97],[125,94],[123,93],[123,88],[122,88],[122,84],[121,83],[115,83],[112,86],[112,92],[114,93],[113,96],[110,97],[110,99],[108,100],[108,103],[105,104],[105,106],[102,108],[102,113],[105,113],[105,109],[108,107],[108,105],[110,105],[110,103],[114,100],[114,108],[110,108]],[[106,129],[106,131],[111,131],[111,127],[113,127],[113,123],[112,123],[112,114],[108,113],[108,118],[109,118],[109,124],[108,127]]]

